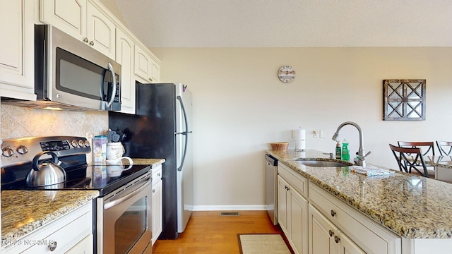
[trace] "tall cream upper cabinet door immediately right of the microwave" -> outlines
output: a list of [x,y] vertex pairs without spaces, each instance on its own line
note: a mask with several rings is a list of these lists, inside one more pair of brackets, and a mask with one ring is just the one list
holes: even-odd
[[133,40],[120,29],[117,29],[116,37],[116,61],[121,64],[121,112],[135,114]]

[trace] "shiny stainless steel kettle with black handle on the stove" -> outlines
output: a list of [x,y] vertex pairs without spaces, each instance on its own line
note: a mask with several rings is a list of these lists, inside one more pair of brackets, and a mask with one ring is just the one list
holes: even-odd
[[[41,164],[38,161],[42,155],[51,155],[53,162],[44,160]],[[40,152],[32,160],[32,169],[27,176],[27,186],[41,187],[53,186],[56,184],[64,185],[66,181],[66,171],[58,164],[58,156],[54,152]]]

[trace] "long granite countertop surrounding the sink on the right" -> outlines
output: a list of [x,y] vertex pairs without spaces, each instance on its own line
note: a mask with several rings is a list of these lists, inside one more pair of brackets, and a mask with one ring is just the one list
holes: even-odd
[[451,183],[396,170],[393,176],[375,178],[350,167],[308,167],[295,161],[328,160],[329,155],[315,150],[266,152],[399,236],[452,238]]

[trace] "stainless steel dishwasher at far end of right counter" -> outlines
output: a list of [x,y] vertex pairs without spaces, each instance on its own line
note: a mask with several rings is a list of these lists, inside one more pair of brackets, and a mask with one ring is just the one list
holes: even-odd
[[278,159],[266,155],[266,209],[273,225],[278,224],[278,204],[276,197],[278,193]]

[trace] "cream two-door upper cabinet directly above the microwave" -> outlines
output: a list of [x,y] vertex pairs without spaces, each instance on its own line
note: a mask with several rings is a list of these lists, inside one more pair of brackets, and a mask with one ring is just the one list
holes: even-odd
[[87,0],[41,0],[40,21],[53,25],[115,59],[115,28],[112,20]]

